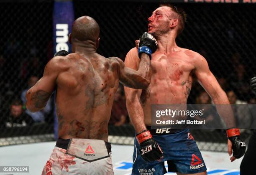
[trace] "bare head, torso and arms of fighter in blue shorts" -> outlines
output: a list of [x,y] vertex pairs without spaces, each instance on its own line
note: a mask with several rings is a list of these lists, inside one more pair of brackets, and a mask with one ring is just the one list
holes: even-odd
[[[192,81],[198,81],[215,104],[229,104],[205,58],[177,46],[175,39],[179,33],[179,20],[177,13],[167,6],[157,8],[148,18],[148,33],[158,42],[151,58],[151,84],[146,90],[125,87],[126,106],[136,133],[145,130],[146,125],[151,126],[151,104],[187,104]],[[137,70],[138,63],[137,48],[132,48],[125,57],[125,66]],[[235,127],[231,107],[223,109],[218,105],[217,110],[227,128]],[[232,152],[230,144],[228,139],[229,155]],[[235,159],[230,158],[231,161]]]

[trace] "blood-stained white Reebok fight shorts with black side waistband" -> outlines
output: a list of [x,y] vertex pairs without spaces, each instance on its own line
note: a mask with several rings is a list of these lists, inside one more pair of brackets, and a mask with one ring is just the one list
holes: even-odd
[[111,145],[95,139],[61,139],[42,175],[113,175]]

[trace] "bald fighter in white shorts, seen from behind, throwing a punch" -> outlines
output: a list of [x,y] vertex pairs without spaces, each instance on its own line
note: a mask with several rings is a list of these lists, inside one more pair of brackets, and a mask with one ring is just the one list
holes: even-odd
[[146,89],[150,83],[151,52],[157,48],[154,37],[141,36],[140,61],[134,71],[119,58],[97,53],[99,33],[93,18],[75,20],[69,34],[72,53],[56,53],[60,56],[47,63],[43,77],[26,94],[27,109],[36,112],[56,90],[59,139],[42,175],[113,175],[108,122],[119,81],[135,89]]

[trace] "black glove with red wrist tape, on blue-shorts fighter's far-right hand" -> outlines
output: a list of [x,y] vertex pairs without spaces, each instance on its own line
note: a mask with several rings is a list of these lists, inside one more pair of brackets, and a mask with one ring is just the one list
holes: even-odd
[[232,142],[233,156],[240,158],[246,151],[245,142],[240,140],[240,131],[238,128],[227,129],[228,139]]

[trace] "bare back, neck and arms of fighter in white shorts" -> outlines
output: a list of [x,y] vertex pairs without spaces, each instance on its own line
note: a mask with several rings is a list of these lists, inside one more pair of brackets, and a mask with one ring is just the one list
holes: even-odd
[[[81,21],[75,21],[78,22]],[[40,111],[56,89],[59,137],[108,142],[108,122],[119,81],[125,86],[146,89],[150,82],[150,59],[142,54],[138,71],[134,71],[119,58],[96,53],[95,43],[92,48],[88,46],[90,42],[73,39],[75,53],[52,58],[44,76],[28,90],[26,107],[32,112]]]

